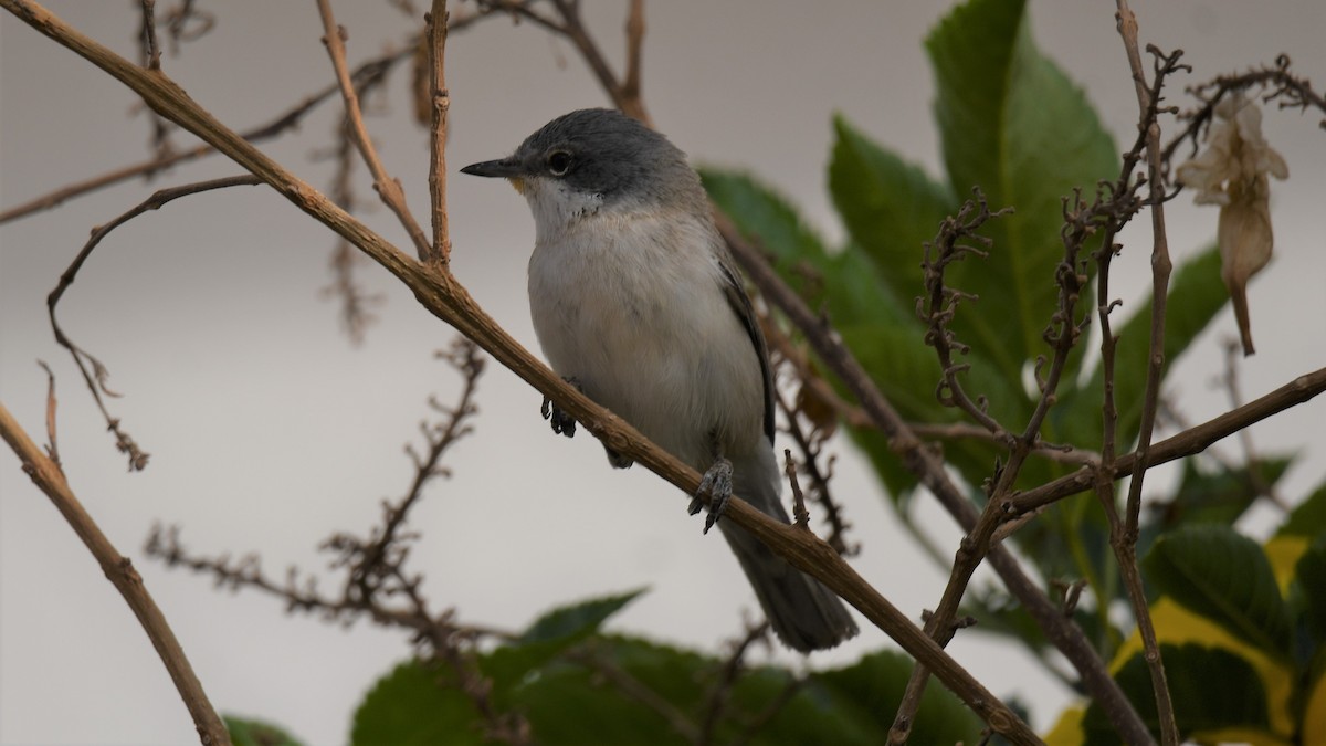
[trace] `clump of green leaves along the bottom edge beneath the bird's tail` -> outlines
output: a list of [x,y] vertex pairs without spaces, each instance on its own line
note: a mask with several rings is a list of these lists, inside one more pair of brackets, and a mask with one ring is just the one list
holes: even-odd
[[[492,705],[518,713],[545,745],[686,745],[705,727],[713,743],[884,741],[911,673],[906,656],[873,653],[805,680],[773,666],[741,668],[728,678],[725,660],[599,632],[609,613],[634,597],[557,609],[516,640],[473,656],[475,672],[492,685]],[[487,725],[453,668],[407,661],[369,692],[350,742],[477,745]],[[952,694],[926,692],[918,743],[975,742],[980,731],[980,719]]]

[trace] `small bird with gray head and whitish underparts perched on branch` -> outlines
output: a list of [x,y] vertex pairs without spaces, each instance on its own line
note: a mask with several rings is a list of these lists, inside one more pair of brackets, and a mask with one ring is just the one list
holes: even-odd
[[[764,335],[686,155],[607,109],[558,117],[500,161],[529,200],[534,332],[560,376],[704,474],[705,530],[733,490],[784,523]],[[544,406],[553,430],[575,423]],[[629,458],[607,451],[613,466]],[[731,523],[719,524],[778,637],[801,652],[857,634],[842,601]]]

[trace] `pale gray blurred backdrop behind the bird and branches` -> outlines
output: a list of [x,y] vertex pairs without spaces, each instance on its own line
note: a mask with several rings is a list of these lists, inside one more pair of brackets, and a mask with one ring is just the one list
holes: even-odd
[[[52,3],[126,56],[135,54],[134,5]],[[619,60],[623,4],[586,5],[594,32]],[[217,13],[217,29],[182,57],[167,57],[164,69],[231,126],[267,121],[330,80],[313,3],[204,7]],[[948,7],[652,3],[646,98],[658,126],[696,161],[751,169],[837,239],[842,228],[825,191],[833,112],[939,173],[920,40]],[[1127,142],[1136,104],[1113,8],[1034,1],[1032,16],[1041,46],[1086,86],[1106,126]],[[1289,52],[1301,73],[1326,81],[1321,3],[1139,1],[1136,11],[1143,42],[1187,49],[1199,76]],[[399,44],[414,28],[385,3],[341,1],[337,12],[350,29],[351,61]],[[135,104],[123,88],[8,16],[0,17],[0,204],[143,158],[147,126],[130,118]],[[505,154],[557,114],[605,102],[575,52],[530,24],[493,20],[457,33],[447,74],[453,174]],[[403,123],[406,77],[402,69],[386,100],[394,115],[374,117],[369,126],[426,220],[426,135]],[[1181,101],[1177,89],[1171,97]],[[330,141],[337,109],[325,106],[297,138],[263,149],[325,186],[329,166],[310,155]],[[1278,258],[1252,287],[1261,352],[1242,366],[1249,396],[1326,358],[1319,224],[1326,135],[1315,119],[1268,117],[1292,179],[1273,185]],[[146,560],[141,544],[154,522],[179,523],[198,552],[257,551],[277,576],[292,563],[322,568],[317,543],[337,530],[363,530],[377,520],[378,500],[407,483],[400,447],[414,435],[426,397],[451,401],[456,389],[456,377],[431,358],[452,332],[366,265],[363,281],[389,303],[367,344],[351,349],[334,305],[318,300],[333,236],[264,187],[194,196],[141,218],[105,242],[62,305],[69,332],[101,356],[113,386],[127,394],[113,402],[114,411],[152,453],[146,473],[126,475],[45,319],[45,295],[91,226],[158,185],[233,173],[212,159],[155,185],[119,186],[0,227],[0,398],[40,438],[45,376],[36,360],[53,365],[70,483],[135,559],[216,706],[272,718],[309,743],[337,743],[373,677],[408,654],[404,637],[288,619],[278,601],[220,593],[203,577]],[[361,196],[371,196],[366,179],[358,186]],[[524,297],[532,230],[522,200],[503,185],[465,178],[451,182],[450,195],[457,276],[537,349]],[[1216,211],[1193,208],[1187,198],[1172,204],[1170,218],[1180,259],[1215,235]],[[375,208],[369,220],[406,246],[387,211]],[[1146,232],[1124,238],[1114,287],[1131,312],[1147,292],[1150,243]],[[1217,342],[1233,333],[1225,313],[1171,378],[1193,421],[1225,405],[1212,381],[1221,368]],[[412,514],[411,526],[426,535],[414,567],[426,572],[439,605],[455,604],[467,621],[518,628],[550,604],[648,584],[652,591],[611,628],[705,649],[753,612],[727,547],[701,538],[670,486],[644,470],[609,470],[587,437],[553,438],[537,415],[540,396],[503,369],[492,366],[479,401],[477,435],[447,459],[455,479]],[[1266,451],[1306,443],[1286,495],[1322,478],[1322,413],[1313,404],[1253,429]],[[855,523],[854,539],[865,543],[854,564],[916,616],[936,603],[945,573],[894,528],[850,447],[837,447],[843,455],[837,491]],[[192,725],[134,617],[16,466],[0,454],[0,742],[192,742]],[[923,515],[952,551],[951,520],[930,507]],[[1264,532],[1269,523],[1254,516],[1249,527]],[[866,631],[812,665],[851,661],[880,646],[891,642]],[[996,693],[1030,702],[1041,727],[1069,701],[1017,650],[975,633],[960,634],[951,650]]]

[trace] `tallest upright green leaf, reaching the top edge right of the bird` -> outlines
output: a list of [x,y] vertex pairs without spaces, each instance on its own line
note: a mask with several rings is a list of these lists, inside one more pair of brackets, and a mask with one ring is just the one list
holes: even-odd
[[979,186],[992,208],[1017,210],[983,228],[994,242],[988,260],[951,271],[952,287],[980,296],[955,331],[1020,381],[1024,362],[1046,352],[1041,333],[1058,305],[1061,200],[1074,188],[1090,199],[1098,181],[1116,178],[1118,153],[1082,92],[1037,49],[1024,1],[960,5],[926,49],[952,191],[965,198]]

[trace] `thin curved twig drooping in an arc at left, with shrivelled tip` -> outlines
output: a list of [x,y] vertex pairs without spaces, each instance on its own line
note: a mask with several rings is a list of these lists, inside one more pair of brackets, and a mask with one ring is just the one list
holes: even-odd
[[151,196],[138,203],[127,212],[123,212],[114,220],[103,226],[98,226],[95,230],[93,230],[91,236],[88,239],[88,243],[84,244],[84,247],[78,251],[78,255],[74,256],[74,260],[70,261],[69,267],[66,267],[64,273],[60,275],[60,281],[56,284],[56,288],[50,291],[50,295],[46,296],[46,313],[50,317],[50,329],[56,335],[56,341],[60,344],[60,346],[68,349],[70,356],[73,356],[74,364],[78,366],[78,372],[82,373],[84,381],[88,384],[88,390],[91,392],[93,400],[95,400],[97,402],[97,409],[101,410],[102,417],[106,419],[106,429],[114,433],[115,435],[115,447],[119,449],[121,453],[129,457],[130,471],[142,471],[147,466],[147,459],[150,454],[143,451],[138,446],[138,443],[134,442],[134,439],[129,435],[129,433],[126,433],[121,427],[118,418],[110,415],[110,411],[106,409],[106,402],[105,400],[102,400],[102,393],[105,393],[106,396],[118,396],[106,388],[106,378],[109,377],[110,372],[106,369],[105,365],[102,365],[99,360],[97,360],[95,357],[85,352],[82,348],[76,345],[68,337],[68,335],[65,335],[65,331],[60,327],[60,321],[56,320],[56,305],[60,304],[60,299],[65,295],[65,291],[69,289],[69,285],[74,283],[74,279],[78,276],[78,271],[82,268],[84,261],[86,261],[88,258],[91,256],[93,250],[97,248],[97,246],[102,242],[102,239],[110,235],[110,232],[118,228],[119,226],[123,226],[129,220],[133,220],[134,218],[142,215],[143,212],[147,212],[149,210],[158,210],[182,196],[188,196],[191,194],[200,194],[204,191],[212,191],[216,188],[227,188],[232,186],[255,186],[259,183],[263,182],[252,175],[227,177],[223,179],[198,182],[192,185],[178,186],[174,188],[163,188],[154,192]]

